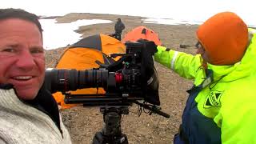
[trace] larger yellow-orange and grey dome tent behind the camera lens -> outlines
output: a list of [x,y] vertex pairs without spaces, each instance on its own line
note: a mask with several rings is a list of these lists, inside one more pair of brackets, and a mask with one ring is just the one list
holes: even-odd
[[[76,70],[89,70],[98,68],[95,62],[98,60],[103,64],[110,64],[114,62],[106,58],[110,54],[124,54],[126,50],[125,45],[115,38],[104,34],[97,34],[87,38],[82,38],[80,41],[69,46],[68,49],[62,54],[56,68],[58,69],[76,69]],[[118,60],[118,58],[114,58]],[[102,88],[87,88],[82,90],[70,91],[71,94],[104,94]],[[54,98],[62,109],[70,108],[71,104],[64,103],[64,96],[62,93],[57,92]]]

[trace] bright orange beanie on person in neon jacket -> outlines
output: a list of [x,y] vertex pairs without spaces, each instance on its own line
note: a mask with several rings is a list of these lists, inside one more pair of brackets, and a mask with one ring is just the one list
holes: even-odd
[[232,65],[245,54],[248,29],[237,14],[215,14],[199,26],[197,35],[213,65]]

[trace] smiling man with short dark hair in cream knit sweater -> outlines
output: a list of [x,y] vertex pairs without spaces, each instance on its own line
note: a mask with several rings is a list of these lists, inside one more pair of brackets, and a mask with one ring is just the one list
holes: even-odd
[[0,9],[0,143],[71,143],[57,103],[43,87],[38,16]]

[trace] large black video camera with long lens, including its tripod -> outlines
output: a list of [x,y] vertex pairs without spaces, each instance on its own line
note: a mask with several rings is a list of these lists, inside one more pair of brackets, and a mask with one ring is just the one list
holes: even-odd
[[[133,103],[150,110],[150,114],[170,117],[159,107],[158,74],[152,52],[142,42],[126,42],[125,45],[126,54],[111,54],[111,58],[121,58],[108,66],[98,62],[100,68],[92,70],[46,70],[46,87],[51,93],[61,91],[66,103],[101,106],[106,126],[95,134],[94,142],[128,142],[121,132],[120,120],[122,114],[129,114],[128,106]],[[70,90],[99,87],[104,88],[106,94],[70,93]]]

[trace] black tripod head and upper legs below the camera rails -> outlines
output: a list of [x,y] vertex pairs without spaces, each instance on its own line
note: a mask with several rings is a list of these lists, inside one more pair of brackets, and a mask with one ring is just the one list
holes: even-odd
[[122,114],[129,114],[128,106],[101,107],[105,126],[94,134],[93,144],[128,144],[126,134],[122,134]]

